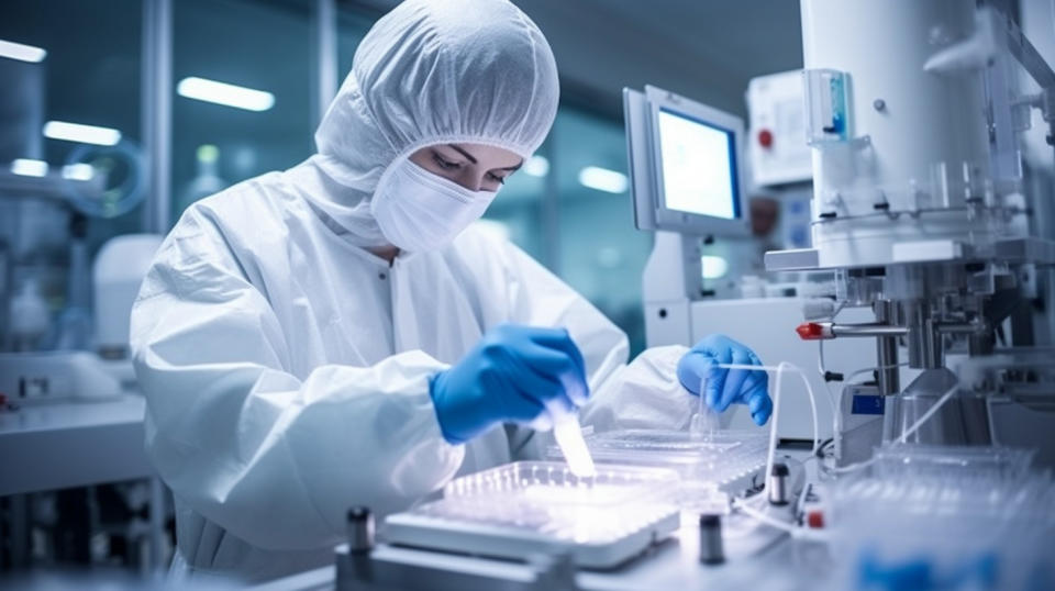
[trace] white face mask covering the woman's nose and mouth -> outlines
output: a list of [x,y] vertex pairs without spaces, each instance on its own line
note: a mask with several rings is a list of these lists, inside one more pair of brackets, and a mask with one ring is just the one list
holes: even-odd
[[407,159],[386,180],[370,200],[370,213],[388,242],[411,253],[449,244],[498,194],[470,191]]

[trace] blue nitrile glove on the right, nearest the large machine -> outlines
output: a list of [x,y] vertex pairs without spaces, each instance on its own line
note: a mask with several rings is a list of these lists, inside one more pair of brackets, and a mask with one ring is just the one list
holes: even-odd
[[762,370],[722,369],[718,364],[760,366],[758,356],[732,338],[712,334],[697,343],[678,361],[678,381],[686,390],[700,394],[700,382],[707,378],[707,405],[724,412],[730,404],[746,404],[756,425],[764,425],[773,414],[769,400],[769,376]]

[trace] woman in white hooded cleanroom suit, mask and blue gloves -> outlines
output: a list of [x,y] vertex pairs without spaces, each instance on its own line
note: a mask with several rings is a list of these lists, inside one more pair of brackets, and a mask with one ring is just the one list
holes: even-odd
[[[546,40],[513,4],[408,0],[359,45],[318,154],[187,210],[131,334],[175,571],[326,564],[351,505],[382,516],[537,457],[532,427],[584,404],[596,428],[684,426],[711,360],[759,363],[717,336],[628,367],[592,305],[467,227],[557,99]],[[765,372],[714,377],[708,403],[765,422]]]

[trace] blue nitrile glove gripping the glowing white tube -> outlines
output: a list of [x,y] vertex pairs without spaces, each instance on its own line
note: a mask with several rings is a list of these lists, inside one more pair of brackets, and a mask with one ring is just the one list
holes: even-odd
[[501,324],[437,373],[429,393],[443,437],[460,444],[500,423],[551,428],[586,403],[589,387],[566,330]]

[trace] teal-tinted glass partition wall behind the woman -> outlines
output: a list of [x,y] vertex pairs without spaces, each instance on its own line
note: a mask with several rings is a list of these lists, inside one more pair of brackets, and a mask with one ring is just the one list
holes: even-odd
[[[140,157],[143,177],[165,181],[144,182],[151,188],[144,204],[76,227],[90,259],[113,236],[164,234],[196,200],[311,155],[324,94],[340,87],[381,13],[334,0],[8,0],[2,14],[0,40],[44,57],[0,57],[8,82],[35,78],[20,99],[27,112],[18,125],[5,120],[0,160],[59,169],[91,140],[45,125],[87,125],[116,134]],[[332,82],[321,83],[327,76]],[[10,94],[4,101],[10,112]],[[644,344],[641,271],[652,237],[633,228],[625,175],[622,122],[562,103],[545,144],[480,223],[593,302],[636,352]],[[0,208],[0,253],[15,260],[7,265],[16,271],[0,291],[10,300],[26,282],[23,275],[37,275],[57,314],[67,303],[70,208],[10,200]]]

